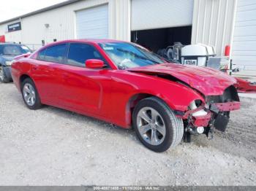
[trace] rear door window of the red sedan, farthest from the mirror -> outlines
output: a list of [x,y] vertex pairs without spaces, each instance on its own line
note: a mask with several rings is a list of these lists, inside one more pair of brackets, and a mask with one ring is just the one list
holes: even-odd
[[46,50],[39,52],[38,59],[54,63],[64,63],[66,50],[67,44],[59,44],[53,47],[48,47]]

